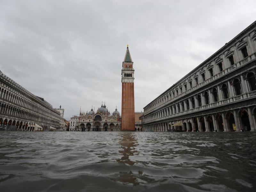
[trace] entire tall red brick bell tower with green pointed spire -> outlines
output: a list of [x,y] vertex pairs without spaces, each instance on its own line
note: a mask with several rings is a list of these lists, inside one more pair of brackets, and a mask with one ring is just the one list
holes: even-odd
[[135,130],[134,69],[127,45],[122,68],[122,126],[121,131]]

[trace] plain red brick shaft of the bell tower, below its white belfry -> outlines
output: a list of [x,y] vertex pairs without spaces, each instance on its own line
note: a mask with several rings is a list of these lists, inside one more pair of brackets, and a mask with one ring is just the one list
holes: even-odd
[[122,131],[135,130],[134,83],[122,83]]

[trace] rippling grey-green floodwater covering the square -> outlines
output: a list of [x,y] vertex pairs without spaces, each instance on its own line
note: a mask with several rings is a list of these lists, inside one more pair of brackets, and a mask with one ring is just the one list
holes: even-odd
[[0,132],[0,191],[256,191],[256,132]]

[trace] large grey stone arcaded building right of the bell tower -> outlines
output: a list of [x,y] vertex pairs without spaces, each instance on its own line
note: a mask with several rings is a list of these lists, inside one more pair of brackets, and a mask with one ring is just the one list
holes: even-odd
[[255,131],[256,21],[144,107],[143,131]]

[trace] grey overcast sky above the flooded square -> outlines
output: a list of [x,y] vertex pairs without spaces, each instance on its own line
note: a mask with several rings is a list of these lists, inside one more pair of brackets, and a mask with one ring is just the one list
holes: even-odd
[[126,44],[135,111],[256,20],[256,1],[0,1],[0,70],[64,118],[121,112]]

